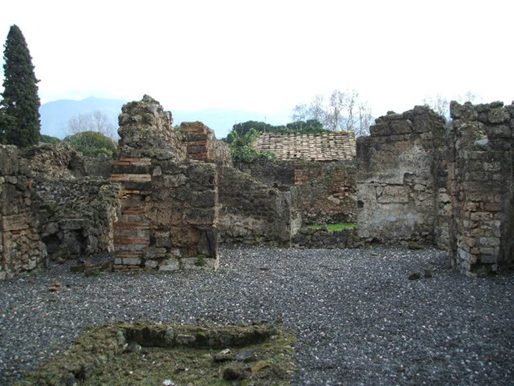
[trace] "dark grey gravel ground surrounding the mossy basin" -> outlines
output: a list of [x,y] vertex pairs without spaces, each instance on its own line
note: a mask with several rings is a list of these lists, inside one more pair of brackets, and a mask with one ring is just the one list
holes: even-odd
[[514,384],[512,273],[469,279],[433,249],[225,248],[221,261],[217,273],[91,277],[65,264],[0,282],[0,384],[87,325],[279,318],[298,334],[295,385]]

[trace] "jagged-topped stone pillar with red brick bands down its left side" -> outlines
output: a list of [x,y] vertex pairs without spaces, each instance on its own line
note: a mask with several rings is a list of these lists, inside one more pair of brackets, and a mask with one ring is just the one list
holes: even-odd
[[148,96],[125,104],[119,123],[115,268],[217,268],[216,165],[185,160],[171,114]]

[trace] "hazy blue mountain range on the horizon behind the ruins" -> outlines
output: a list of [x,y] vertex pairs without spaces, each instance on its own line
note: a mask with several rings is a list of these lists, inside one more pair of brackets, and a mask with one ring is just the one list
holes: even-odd
[[[104,99],[90,97],[83,100],[60,99],[41,105],[41,133],[53,137],[64,138],[67,124],[72,116],[86,114],[99,110],[103,112],[112,124],[118,127],[118,115],[126,101],[122,99]],[[217,138],[226,137],[232,126],[237,122],[247,120],[266,121],[272,125],[281,125],[289,122],[287,113],[261,114],[250,111],[230,109],[202,109],[196,111],[170,110],[173,115],[173,124],[181,122],[201,121],[214,130]]]

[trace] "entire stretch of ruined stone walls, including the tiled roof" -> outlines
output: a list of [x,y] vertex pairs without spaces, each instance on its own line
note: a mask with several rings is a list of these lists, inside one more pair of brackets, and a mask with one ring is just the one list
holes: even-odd
[[[0,147],[0,278],[114,253],[114,269],[216,269],[218,243],[435,245],[468,276],[511,265],[514,104],[452,103],[376,119],[371,135],[263,134],[276,159],[233,165],[201,122],[149,96],[119,116],[112,160]],[[357,222],[328,231],[309,224]]]

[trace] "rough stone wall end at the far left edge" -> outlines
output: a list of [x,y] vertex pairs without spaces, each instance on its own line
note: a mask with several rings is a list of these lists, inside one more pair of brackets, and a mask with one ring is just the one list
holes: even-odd
[[45,264],[32,215],[32,177],[15,146],[0,145],[0,279]]

